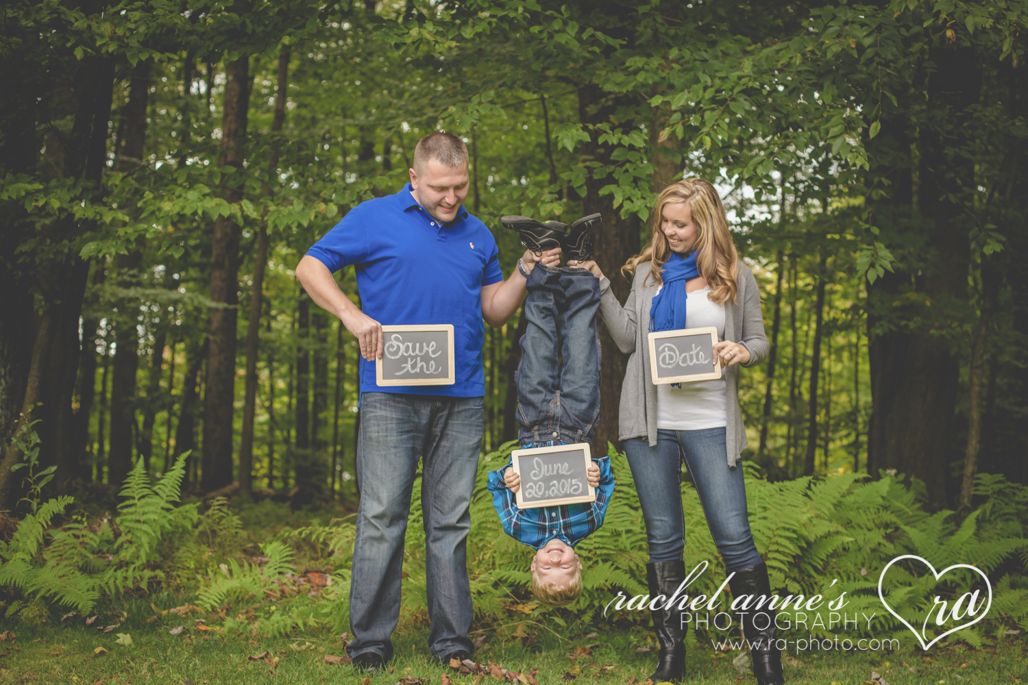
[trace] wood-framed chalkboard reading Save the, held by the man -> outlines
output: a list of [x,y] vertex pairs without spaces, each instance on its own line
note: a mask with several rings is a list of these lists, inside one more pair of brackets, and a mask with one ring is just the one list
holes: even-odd
[[383,326],[382,358],[375,363],[378,385],[452,385],[453,327]]

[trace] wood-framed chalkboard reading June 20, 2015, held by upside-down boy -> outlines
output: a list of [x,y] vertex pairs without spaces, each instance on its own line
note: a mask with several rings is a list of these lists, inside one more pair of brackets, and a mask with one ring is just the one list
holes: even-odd
[[514,450],[511,461],[514,472],[521,477],[518,508],[596,501],[596,493],[586,480],[586,469],[592,463],[589,443]]

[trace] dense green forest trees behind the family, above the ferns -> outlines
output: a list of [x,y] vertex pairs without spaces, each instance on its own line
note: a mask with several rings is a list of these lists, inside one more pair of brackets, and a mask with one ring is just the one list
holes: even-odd
[[[499,217],[600,212],[622,299],[655,193],[718,183],[772,342],[740,388],[771,479],[895,469],[935,506],[978,471],[1026,483],[1024,12],[6,3],[0,497],[31,414],[58,492],[192,450],[188,489],[352,501],[357,348],[292,267],[436,128],[506,274]],[[487,327],[486,451],[515,435],[523,327]],[[601,335],[605,453],[625,355]]]

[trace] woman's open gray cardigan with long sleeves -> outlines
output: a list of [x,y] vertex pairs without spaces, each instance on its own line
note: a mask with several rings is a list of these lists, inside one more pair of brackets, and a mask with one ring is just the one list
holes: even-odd
[[[624,306],[611,291],[611,281],[603,277],[599,281],[599,313],[607,324],[618,348],[628,357],[628,369],[621,386],[620,430],[621,440],[645,436],[651,447],[657,445],[657,386],[650,380],[650,346],[647,334],[650,332],[650,304],[657,294],[658,286],[649,282],[650,263],[644,262],[635,270],[632,291]],[[764,317],[761,314],[761,295],[754,273],[739,263],[736,277],[738,295],[734,302],[725,307],[725,340],[743,345],[749,350],[749,361],[734,365],[725,370],[728,389],[728,465],[735,466],[739,454],[746,447],[746,430],[742,425],[739,411],[739,367],[752,367],[763,361],[770,348],[764,335]]]

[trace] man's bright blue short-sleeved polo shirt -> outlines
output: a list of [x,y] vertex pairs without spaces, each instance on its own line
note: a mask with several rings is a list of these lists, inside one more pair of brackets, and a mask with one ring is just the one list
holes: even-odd
[[455,383],[379,387],[374,363],[361,357],[361,392],[485,394],[482,287],[504,279],[499,254],[485,224],[462,206],[439,225],[409,183],[361,202],[307,251],[333,273],[353,264],[361,309],[382,326],[453,325]]

